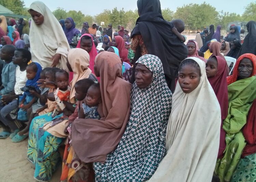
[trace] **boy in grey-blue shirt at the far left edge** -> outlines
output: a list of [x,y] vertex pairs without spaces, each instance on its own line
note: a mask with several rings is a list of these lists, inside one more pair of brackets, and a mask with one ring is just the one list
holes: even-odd
[[2,69],[2,85],[0,86],[0,97],[9,94],[14,90],[16,65],[12,62],[15,47],[13,45],[4,45],[0,50],[0,59],[4,60]]

